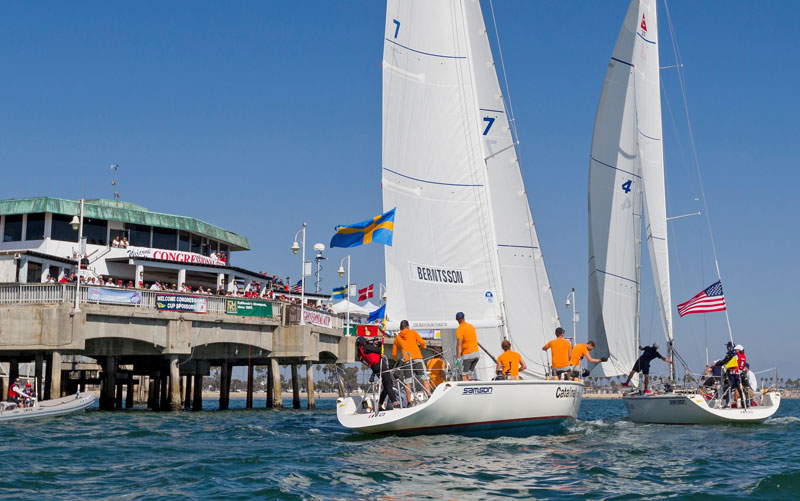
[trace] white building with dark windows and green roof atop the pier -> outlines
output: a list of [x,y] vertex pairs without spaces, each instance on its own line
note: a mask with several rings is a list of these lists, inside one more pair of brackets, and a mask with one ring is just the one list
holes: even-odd
[[[70,224],[80,202],[39,197],[0,201],[0,282],[58,281],[77,268],[89,280],[111,277],[135,287],[160,281],[194,288],[267,284],[263,275],[231,265],[236,251],[249,250],[247,239],[192,217],[152,212],[128,202],[86,200],[83,236]],[[127,239],[128,245],[116,246]]]

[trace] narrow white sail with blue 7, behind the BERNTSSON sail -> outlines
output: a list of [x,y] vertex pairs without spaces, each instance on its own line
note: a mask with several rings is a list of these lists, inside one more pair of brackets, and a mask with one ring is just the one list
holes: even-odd
[[[547,354],[542,346],[559,326],[558,313],[533,225],[520,172],[508,112],[478,1],[465,2],[472,69],[480,119],[480,137],[489,186],[502,291],[498,301],[506,335],[527,361],[529,370],[544,375]],[[500,352],[495,342],[488,347]]]

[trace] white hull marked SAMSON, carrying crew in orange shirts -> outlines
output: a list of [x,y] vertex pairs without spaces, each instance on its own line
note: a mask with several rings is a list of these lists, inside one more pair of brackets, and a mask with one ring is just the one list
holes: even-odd
[[515,434],[557,427],[577,417],[583,383],[448,381],[422,404],[377,413],[362,408],[365,398],[337,400],[336,415],[342,426],[361,433]]

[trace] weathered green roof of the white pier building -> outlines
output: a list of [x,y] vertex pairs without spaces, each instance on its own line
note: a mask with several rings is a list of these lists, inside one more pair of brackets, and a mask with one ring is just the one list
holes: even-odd
[[[0,200],[0,215],[30,214],[34,212],[75,215],[78,213],[79,203],[80,201],[51,197],[12,198],[10,200]],[[250,250],[250,243],[247,238],[232,231],[223,230],[219,226],[214,226],[193,217],[152,212],[141,205],[130,202],[116,202],[104,199],[86,200],[83,214],[85,217],[191,231],[237,247],[237,250]]]

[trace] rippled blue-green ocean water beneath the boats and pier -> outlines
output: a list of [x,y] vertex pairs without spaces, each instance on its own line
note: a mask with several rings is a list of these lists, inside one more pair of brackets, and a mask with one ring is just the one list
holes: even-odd
[[0,498],[800,497],[798,400],[762,425],[719,426],[634,424],[622,401],[585,400],[560,433],[492,439],[360,436],[339,426],[333,400],[231,404],[0,424]]

